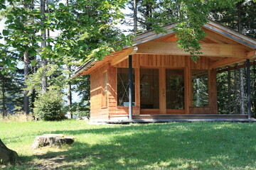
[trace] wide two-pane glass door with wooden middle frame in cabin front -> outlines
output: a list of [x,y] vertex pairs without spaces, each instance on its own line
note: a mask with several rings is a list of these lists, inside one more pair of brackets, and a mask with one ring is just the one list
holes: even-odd
[[139,76],[141,109],[184,109],[183,69],[140,69]]

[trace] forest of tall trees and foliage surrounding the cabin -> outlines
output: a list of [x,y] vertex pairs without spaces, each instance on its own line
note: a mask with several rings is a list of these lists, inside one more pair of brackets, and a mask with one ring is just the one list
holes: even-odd
[[[256,38],[252,0],[0,0],[0,9],[5,24],[0,33],[2,117],[18,113],[45,120],[65,114],[89,116],[90,77],[71,79],[73,72],[92,57],[101,60],[132,45],[132,38],[145,30],[162,33],[161,26],[177,22],[178,47],[195,62],[199,40],[205,35],[200,26],[207,19]],[[17,67],[21,62],[22,67]],[[255,64],[250,69],[255,117]],[[246,113],[246,77],[245,68],[218,74],[219,113]],[[72,92],[80,96],[78,102],[73,102]],[[52,107],[44,107],[49,103]]]

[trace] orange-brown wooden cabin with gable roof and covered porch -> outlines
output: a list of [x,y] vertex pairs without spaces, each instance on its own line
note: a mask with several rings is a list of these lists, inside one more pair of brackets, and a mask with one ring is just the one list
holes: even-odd
[[256,40],[209,21],[202,26],[203,55],[193,62],[177,47],[175,26],[164,26],[167,33],[141,33],[133,47],[89,60],[75,72],[74,77],[90,74],[91,121],[250,118],[218,113],[216,72],[245,62],[250,66]]

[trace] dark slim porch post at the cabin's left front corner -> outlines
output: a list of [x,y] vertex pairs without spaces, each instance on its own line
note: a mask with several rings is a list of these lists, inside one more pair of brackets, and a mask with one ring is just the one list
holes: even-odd
[[132,120],[132,55],[129,55],[129,120]]

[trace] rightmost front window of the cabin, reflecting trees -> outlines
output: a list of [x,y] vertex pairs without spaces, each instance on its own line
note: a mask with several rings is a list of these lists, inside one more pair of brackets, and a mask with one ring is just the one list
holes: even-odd
[[208,70],[192,70],[193,106],[208,106]]

